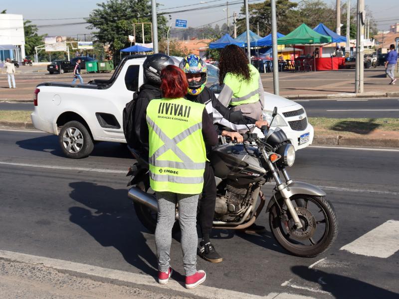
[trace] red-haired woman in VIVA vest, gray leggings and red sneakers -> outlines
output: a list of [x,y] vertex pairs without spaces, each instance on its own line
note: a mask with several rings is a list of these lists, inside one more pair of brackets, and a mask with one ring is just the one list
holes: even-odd
[[[150,101],[146,111],[150,185],[158,200],[158,282],[167,284],[172,274],[172,227],[179,203],[186,288],[192,289],[206,278],[205,272],[196,267],[197,204],[203,186],[205,146],[217,145],[217,134],[205,105],[183,98],[188,82],[180,68],[166,66],[161,79],[163,98]],[[142,140],[146,142],[147,138],[143,136]]]

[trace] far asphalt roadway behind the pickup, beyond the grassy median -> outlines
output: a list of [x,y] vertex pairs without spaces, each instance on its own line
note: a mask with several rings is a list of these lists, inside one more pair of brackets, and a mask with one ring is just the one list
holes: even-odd
[[[399,98],[348,100],[297,100],[309,117],[399,118]],[[0,110],[32,111],[31,103],[1,103]]]

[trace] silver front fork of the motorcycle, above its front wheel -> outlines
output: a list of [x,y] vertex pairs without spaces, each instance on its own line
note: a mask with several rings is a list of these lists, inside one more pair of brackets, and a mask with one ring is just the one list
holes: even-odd
[[[273,175],[274,180],[276,181],[277,184],[277,190],[280,192],[281,196],[284,198],[284,203],[288,208],[288,211],[290,212],[292,219],[295,222],[295,226],[297,229],[302,228],[302,223],[299,220],[298,214],[295,211],[294,206],[292,205],[292,202],[290,200],[290,194],[287,190],[286,185],[281,181],[280,177],[278,176],[278,169],[276,169],[276,167],[274,167],[274,164],[270,161],[269,159],[269,155],[267,154],[265,149],[260,149],[263,157],[265,158],[267,165],[269,166],[269,169]],[[288,172],[285,168],[281,169],[281,172],[284,175],[284,178],[286,180],[286,183],[289,184],[292,182],[292,180],[290,179]]]

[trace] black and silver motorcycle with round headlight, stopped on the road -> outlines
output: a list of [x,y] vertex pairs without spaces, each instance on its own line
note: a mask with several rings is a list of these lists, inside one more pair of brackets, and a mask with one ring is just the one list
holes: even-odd
[[[277,115],[277,107],[273,111]],[[221,138],[212,150],[210,162],[217,186],[213,227],[244,229],[252,225],[266,204],[261,188],[274,180],[266,205],[269,227],[276,241],[299,257],[315,257],[325,252],[338,234],[338,219],[326,193],[317,186],[293,181],[286,167],[295,161],[294,147],[281,130],[262,127],[264,138],[256,133],[242,134],[244,142]],[[129,168],[128,197],[133,200],[140,222],[155,232],[157,200],[149,184],[148,162],[130,149],[137,162]],[[282,177],[285,182],[282,181]],[[178,207],[176,219],[179,218]],[[176,222],[174,230],[178,229]]]

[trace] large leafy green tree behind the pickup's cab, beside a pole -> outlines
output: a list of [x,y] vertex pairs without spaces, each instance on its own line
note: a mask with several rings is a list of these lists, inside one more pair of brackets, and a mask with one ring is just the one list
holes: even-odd
[[[151,4],[147,0],[108,0],[97,3],[99,8],[94,9],[86,21],[90,23],[88,29],[97,29],[94,32],[99,42],[110,45],[110,51],[116,51],[130,46],[128,35],[133,35],[133,26],[137,22],[151,22]],[[158,35],[166,36],[168,28],[166,18],[158,15]],[[145,41],[151,41],[151,28],[145,24]],[[136,41],[141,41],[141,25],[136,25]],[[119,56],[119,55],[117,55]]]

